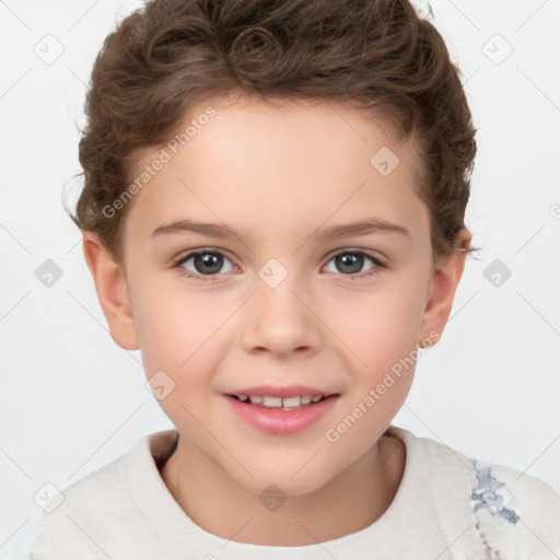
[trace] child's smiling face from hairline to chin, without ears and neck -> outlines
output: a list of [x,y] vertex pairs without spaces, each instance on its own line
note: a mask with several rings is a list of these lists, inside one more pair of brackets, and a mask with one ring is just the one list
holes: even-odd
[[[245,489],[296,495],[375,444],[408,394],[416,345],[442,328],[418,162],[342,105],[213,100],[188,121],[209,105],[132,200],[129,347],[185,441]],[[231,396],[262,385],[330,397],[267,412]]]

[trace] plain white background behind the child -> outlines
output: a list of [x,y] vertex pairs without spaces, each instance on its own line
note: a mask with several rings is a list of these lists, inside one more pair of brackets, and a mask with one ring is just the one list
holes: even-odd
[[[107,331],[61,206],[63,189],[69,202],[79,190],[93,59],[139,5],[0,1],[1,559],[26,558],[46,482],[63,489],[172,428],[144,386],[140,352]],[[467,225],[482,250],[467,260],[443,338],[419,361],[394,423],[560,493],[560,1],[431,5],[479,129]],[[51,65],[34,51],[47,34],[63,46]],[[508,47],[495,34],[513,48],[501,63]],[[62,270],[50,288],[35,276],[46,259]],[[500,287],[483,276],[494,259],[512,271]]]

